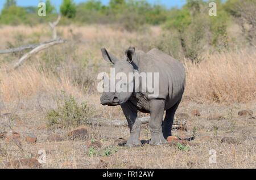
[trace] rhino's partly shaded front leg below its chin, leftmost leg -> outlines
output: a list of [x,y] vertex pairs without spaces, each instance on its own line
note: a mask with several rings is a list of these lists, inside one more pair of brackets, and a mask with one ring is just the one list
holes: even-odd
[[137,108],[129,101],[121,105],[123,114],[125,114],[128,126],[130,128],[130,138],[127,140],[126,147],[140,147],[141,141],[139,136],[141,134],[141,121],[139,121]]

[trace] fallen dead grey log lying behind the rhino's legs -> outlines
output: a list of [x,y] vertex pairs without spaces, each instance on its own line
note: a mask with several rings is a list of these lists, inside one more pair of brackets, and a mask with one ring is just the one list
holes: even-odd
[[[148,123],[150,117],[143,117],[139,118],[140,121],[142,121],[142,124]],[[89,125],[96,125],[96,126],[116,126],[116,127],[121,127],[121,126],[127,126],[127,121],[126,120],[119,120],[119,119],[105,119],[105,118],[90,118],[87,123]],[[185,120],[179,120],[175,119],[174,124],[172,125],[172,129],[177,129],[177,130],[186,130],[187,128],[187,121]]]

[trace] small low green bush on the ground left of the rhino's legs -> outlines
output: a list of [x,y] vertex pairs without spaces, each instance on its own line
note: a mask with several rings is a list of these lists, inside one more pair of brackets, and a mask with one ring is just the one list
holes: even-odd
[[49,110],[46,118],[49,127],[76,127],[86,123],[89,114],[90,109],[86,102],[79,106],[74,97],[68,96],[65,97],[64,104],[58,102],[57,109]]

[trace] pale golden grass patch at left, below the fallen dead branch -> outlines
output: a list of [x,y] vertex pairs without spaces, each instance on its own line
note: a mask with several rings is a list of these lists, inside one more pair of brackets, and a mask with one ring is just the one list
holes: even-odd
[[49,93],[53,96],[60,91],[76,96],[81,93],[62,73],[57,79],[50,72],[39,71],[34,65],[24,65],[13,71],[6,71],[5,68],[2,67],[0,71],[0,97],[7,102],[30,99],[39,93]]

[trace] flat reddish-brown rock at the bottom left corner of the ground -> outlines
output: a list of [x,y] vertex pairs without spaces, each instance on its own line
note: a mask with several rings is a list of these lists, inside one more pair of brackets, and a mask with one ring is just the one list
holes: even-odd
[[42,168],[42,165],[36,158],[23,158],[7,162],[5,164],[7,168]]

